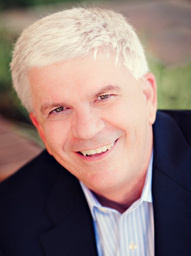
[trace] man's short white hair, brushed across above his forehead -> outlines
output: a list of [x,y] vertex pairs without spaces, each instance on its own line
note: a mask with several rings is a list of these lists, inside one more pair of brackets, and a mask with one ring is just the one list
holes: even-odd
[[143,47],[133,27],[123,15],[100,8],[72,8],[44,17],[18,38],[10,64],[18,97],[32,111],[28,71],[78,57],[98,50],[114,53],[116,63],[123,62],[134,78],[148,72]]

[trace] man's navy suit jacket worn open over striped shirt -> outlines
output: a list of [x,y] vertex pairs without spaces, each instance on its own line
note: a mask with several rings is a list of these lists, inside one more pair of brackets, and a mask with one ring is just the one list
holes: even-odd
[[[157,112],[155,256],[191,255],[191,112]],[[78,180],[44,151],[0,184],[0,256],[96,256]]]

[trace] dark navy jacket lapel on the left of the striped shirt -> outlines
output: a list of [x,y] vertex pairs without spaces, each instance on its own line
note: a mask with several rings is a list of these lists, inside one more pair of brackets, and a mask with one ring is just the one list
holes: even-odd
[[41,236],[47,256],[97,256],[91,213],[78,180],[63,167],[47,203],[53,227]]

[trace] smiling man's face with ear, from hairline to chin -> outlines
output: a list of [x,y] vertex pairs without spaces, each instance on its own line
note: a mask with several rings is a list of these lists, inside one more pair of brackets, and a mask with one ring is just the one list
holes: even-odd
[[[31,119],[47,150],[96,193],[132,183],[148,165],[156,93],[103,55],[33,68]],[[84,156],[86,155],[86,156]]]

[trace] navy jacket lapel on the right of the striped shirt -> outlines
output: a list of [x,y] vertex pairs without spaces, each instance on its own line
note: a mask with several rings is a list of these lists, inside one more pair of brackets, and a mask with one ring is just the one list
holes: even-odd
[[155,256],[191,251],[191,150],[175,121],[157,113],[152,196]]

